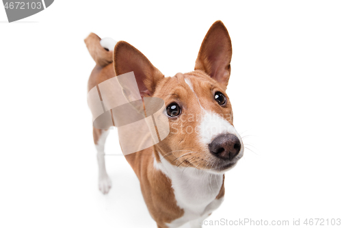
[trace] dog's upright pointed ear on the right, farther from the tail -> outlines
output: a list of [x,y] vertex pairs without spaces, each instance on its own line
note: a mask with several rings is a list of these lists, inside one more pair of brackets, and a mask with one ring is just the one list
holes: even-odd
[[231,58],[231,38],[222,21],[216,21],[202,41],[195,70],[205,71],[226,88],[231,75]]

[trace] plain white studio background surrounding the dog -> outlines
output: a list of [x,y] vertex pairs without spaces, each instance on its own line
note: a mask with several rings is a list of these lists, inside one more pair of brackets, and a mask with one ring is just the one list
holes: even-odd
[[[0,227],[156,227],[124,157],[106,157],[113,187],[97,189],[83,39],[125,40],[173,76],[193,70],[216,20],[233,42],[227,93],[252,151],[226,174],[225,201],[207,220],[341,218],[341,7],[57,0],[5,23],[1,6]],[[120,153],[115,130],[106,150]]]

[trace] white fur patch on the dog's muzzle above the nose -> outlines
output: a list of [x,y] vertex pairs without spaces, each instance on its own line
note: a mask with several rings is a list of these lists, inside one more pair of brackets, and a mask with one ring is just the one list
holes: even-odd
[[242,143],[241,137],[237,133],[235,127],[222,118],[222,116],[212,112],[205,112],[199,130],[200,140],[204,144],[210,144],[213,139],[220,134],[233,134],[237,136]]

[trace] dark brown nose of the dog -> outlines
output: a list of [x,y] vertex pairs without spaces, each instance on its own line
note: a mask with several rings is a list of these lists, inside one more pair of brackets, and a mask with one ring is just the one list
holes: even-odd
[[233,160],[241,149],[241,142],[233,134],[223,134],[209,144],[209,151],[223,160]]

